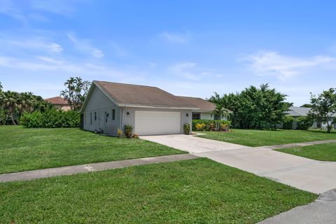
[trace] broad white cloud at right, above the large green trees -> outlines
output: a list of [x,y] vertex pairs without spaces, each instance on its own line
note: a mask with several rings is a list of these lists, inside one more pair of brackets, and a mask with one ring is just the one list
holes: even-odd
[[336,57],[317,55],[302,58],[280,55],[274,51],[263,51],[242,57],[248,67],[258,76],[275,76],[281,80],[292,78],[311,71],[311,69],[336,69],[332,63]]

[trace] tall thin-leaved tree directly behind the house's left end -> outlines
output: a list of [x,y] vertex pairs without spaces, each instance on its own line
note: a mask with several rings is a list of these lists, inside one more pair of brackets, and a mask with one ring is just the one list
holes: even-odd
[[61,96],[67,100],[71,110],[80,110],[90,89],[90,85],[89,81],[83,81],[80,77],[70,77],[66,80],[64,83],[66,89],[62,90]]

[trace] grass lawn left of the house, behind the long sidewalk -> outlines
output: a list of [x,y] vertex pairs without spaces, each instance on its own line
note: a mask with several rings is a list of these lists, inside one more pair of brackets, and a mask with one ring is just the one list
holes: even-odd
[[0,126],[0,174],[180,153],[186,152],[151,141],[99,136],[73,128]]

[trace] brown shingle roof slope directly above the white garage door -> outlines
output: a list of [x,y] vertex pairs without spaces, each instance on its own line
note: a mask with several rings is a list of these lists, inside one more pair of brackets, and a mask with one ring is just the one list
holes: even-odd
[[181,109],[197,109],[197,106],[169,92],[147,85],[110,83],[94,80],[118,106],[153,106]]

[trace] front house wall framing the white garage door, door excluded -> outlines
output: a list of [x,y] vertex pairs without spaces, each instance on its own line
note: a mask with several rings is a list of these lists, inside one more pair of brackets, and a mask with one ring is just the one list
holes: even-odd
[[[181,109],[152,109],[152,108],[134,108],[134,107],[126,107],[122,109],[122,116],[123,116],[123,123],[122,127],[124,125],[132,125],[133,132],[134,132],[134,126],[135,126],[135,111],[174,111],[174,112],[181,112],[181,132],[180,134],[184,134],[183,126],[186,123],[190,124],[190,132],[191,132],[191,125],[192,125],[192,112],[191,110],[181,110]],[[127,116],[127,112],[130,113],[129,116]],[[188,117],[186,114],[188,113]],[[151,125],[151,124],[148,124]],[[137,133],[133,133],[137,134]]]

